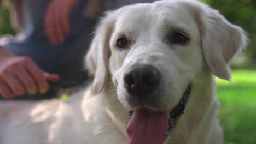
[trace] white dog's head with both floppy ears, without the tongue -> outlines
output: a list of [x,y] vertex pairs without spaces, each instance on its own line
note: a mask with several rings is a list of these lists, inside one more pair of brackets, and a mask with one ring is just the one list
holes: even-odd
[[240,27],[197,1],[157,1],[109,12],[86,64],[98,93],[108,80],[130,110],[170,111],[203,73],[230,80],[228,63],[246,44]]

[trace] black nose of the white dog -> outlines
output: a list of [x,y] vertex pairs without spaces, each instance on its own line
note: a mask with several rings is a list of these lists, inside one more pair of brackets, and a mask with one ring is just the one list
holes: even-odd
[[124,75],[124,87],[132,95],[153,92],[160,83],[160,73],[153,65],[136,64]]

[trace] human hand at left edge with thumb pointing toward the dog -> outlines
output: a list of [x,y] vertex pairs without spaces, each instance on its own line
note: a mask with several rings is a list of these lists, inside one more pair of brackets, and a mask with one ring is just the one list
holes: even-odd
[[59,81],[58,75],[42,71],[28,57],[9,56],[1,58],[0,63],[0,94],[6,99],[25,92],[44,94],[49,89],[48,81]]

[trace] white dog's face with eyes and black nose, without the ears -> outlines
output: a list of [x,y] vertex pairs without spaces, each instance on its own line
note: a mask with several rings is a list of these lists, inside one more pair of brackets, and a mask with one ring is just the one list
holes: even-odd
[[109,70],[118,98],[132,110],[171,110],[203,63],[195,20],[172,4],[122,11],[109,45]]

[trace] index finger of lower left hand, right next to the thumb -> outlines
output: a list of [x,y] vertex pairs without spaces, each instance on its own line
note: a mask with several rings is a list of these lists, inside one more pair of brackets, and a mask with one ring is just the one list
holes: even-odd
[[37,83],[39,92],[42,94],[46,93],[49,85],[43,76],[43,71],[30,58],[25,57],[23,60],[25,61],[25,69],[32,75],[34,81]]

